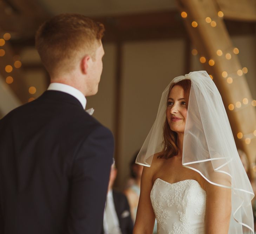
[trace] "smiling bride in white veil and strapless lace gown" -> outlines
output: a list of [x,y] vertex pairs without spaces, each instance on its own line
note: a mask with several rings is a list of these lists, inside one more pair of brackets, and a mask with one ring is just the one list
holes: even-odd
[[171,81],[136,163],[133,234],[254,233],[252,188],[217,87],[205,71]]

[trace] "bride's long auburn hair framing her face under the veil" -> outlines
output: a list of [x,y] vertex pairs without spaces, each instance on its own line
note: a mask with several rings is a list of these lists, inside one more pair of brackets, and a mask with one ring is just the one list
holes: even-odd
[[[176,85],[183,88],[184,99],[186,102],[186,107],[188,109],[191,80],[184,79],[177,83],[172,83],[172,85],[169,88],[168,98],[169,98],[171,89]],[[166,106],[167,106],[167,100],[166,100]],[[178,154],[177,133],[171,130],[169,123],[167,121],[167,118],[165,118],[165,122],[163,126],[163,150],[160,153],[159,158],[169,159],[177,154]]]

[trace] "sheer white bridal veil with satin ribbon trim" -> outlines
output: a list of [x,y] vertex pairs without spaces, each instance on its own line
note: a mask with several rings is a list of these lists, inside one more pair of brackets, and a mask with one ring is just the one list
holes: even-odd
[[198,172],[209,183],[232,190],[229,234],[254,234],[251,206],[254,193],[239,158],[221,95],[206,71],[178,76],[165,88],[156,120],[136,163],[150,167],[153,155],[163,150],[163,126],[169,87],[183,79],[191,80],[191,89],[182,165]]

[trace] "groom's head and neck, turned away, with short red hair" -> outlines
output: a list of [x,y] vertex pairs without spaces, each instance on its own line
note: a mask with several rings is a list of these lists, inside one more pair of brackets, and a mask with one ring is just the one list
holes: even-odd
[[80,14],[60,14],[44,22],[35,35],[35,46],[51,82],[74,86],[86,96],[97,93],[103,33],[103,24]]

